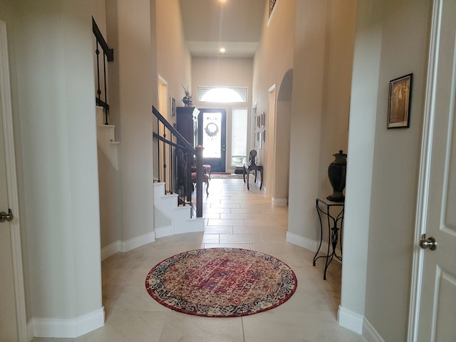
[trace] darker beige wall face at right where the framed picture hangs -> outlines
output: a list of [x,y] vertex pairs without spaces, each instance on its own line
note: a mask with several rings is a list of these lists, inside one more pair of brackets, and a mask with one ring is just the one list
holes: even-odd
[[[405,341],[408,327],[431,2],[391,0],[381,9],[365,316],[385,341]],[[408,73],[413,73],[410,128],[388,130],[388,83]],[[361,132],[353,132],[354,142],[356,133]]]

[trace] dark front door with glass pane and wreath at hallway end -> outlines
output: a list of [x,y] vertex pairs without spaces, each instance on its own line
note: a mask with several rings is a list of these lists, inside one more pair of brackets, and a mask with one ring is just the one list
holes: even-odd
[[203,164],[211,165],[211,172],[225,172],[227,150],[227,111],[224,109],[199,108],[199,144],[202,151]]

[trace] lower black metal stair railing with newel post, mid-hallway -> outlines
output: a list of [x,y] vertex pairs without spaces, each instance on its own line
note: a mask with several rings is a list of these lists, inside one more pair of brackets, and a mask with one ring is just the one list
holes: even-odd
[[196,164],[196,216],[202,217],[202,146],[193,147],[153,106],[152,114],[157,118],[154,165],[159,165],[154,167],[154,178],[165,183],[165,192],[176,193],[180,204],[192,205],[192,165]]

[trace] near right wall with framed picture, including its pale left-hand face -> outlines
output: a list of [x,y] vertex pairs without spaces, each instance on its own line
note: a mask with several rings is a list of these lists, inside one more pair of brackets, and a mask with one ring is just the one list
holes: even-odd
[[[385,341],[408,329],[431,2],[359,1],[341,306]],[[410,128],[388,130],[389,81],[408,73]]]

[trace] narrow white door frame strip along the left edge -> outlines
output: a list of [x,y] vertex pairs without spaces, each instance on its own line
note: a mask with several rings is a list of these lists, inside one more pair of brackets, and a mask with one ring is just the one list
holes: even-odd
[[19,215],[19,195],[17,190],[16,159],[14,152],[13,109],[11,104],[11,86],[9,80],[9,56],[6,23],[0,20],[0,112],[3,120],[3,135],[6,166],[6,186],[8,205],[14,213],[10,222],[11,251],[14,272],[14,296],[16,299],[16,320],[18,338],[21,342],[28,341],[26,322],[26,300],[24,294],[24,271],[21,254],[21,227]]

